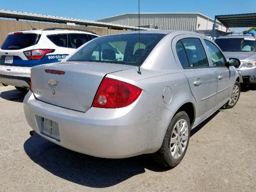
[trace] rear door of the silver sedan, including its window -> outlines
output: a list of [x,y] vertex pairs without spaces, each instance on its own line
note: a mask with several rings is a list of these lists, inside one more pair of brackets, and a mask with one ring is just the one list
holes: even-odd
[[172,48],[196,99],[195,124],[197,124],[214,110],[217,91],[216,72],[208,62],[209,58],[200,36],[190,34],[177,36],[172,42]]

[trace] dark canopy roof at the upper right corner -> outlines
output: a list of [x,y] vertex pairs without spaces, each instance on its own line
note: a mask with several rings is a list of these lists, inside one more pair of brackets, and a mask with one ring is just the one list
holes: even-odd
[[216,15],[222,24],[226,27],[255,27],[256,13],[234,14],[234,15]]

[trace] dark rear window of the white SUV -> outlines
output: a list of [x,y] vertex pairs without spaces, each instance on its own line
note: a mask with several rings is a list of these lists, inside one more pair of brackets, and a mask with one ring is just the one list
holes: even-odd
[[36,44],[38,34],[24,33],[24,34],[10,34],[1,46],[4,50],[17,50],[30,47]]

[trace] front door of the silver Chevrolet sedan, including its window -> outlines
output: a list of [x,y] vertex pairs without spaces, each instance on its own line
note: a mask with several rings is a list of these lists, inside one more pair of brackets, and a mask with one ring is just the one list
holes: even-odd
[[230,96],[230,68],[226,67],[226,58],[219,50],[219,48],[207,39],[204,39],[208,52],[211,56],[213,68],[217,73],[217,97],[216,105],[223,104]]

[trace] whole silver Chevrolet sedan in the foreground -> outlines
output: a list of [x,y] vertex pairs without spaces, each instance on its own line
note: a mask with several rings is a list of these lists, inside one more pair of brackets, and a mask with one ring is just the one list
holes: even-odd
[[174,167],[190,130],[238,101],[239,64],[194,32],[102,36],[33,67],[24,112],[34,133],[65,148],[103,158],[152,153]]

